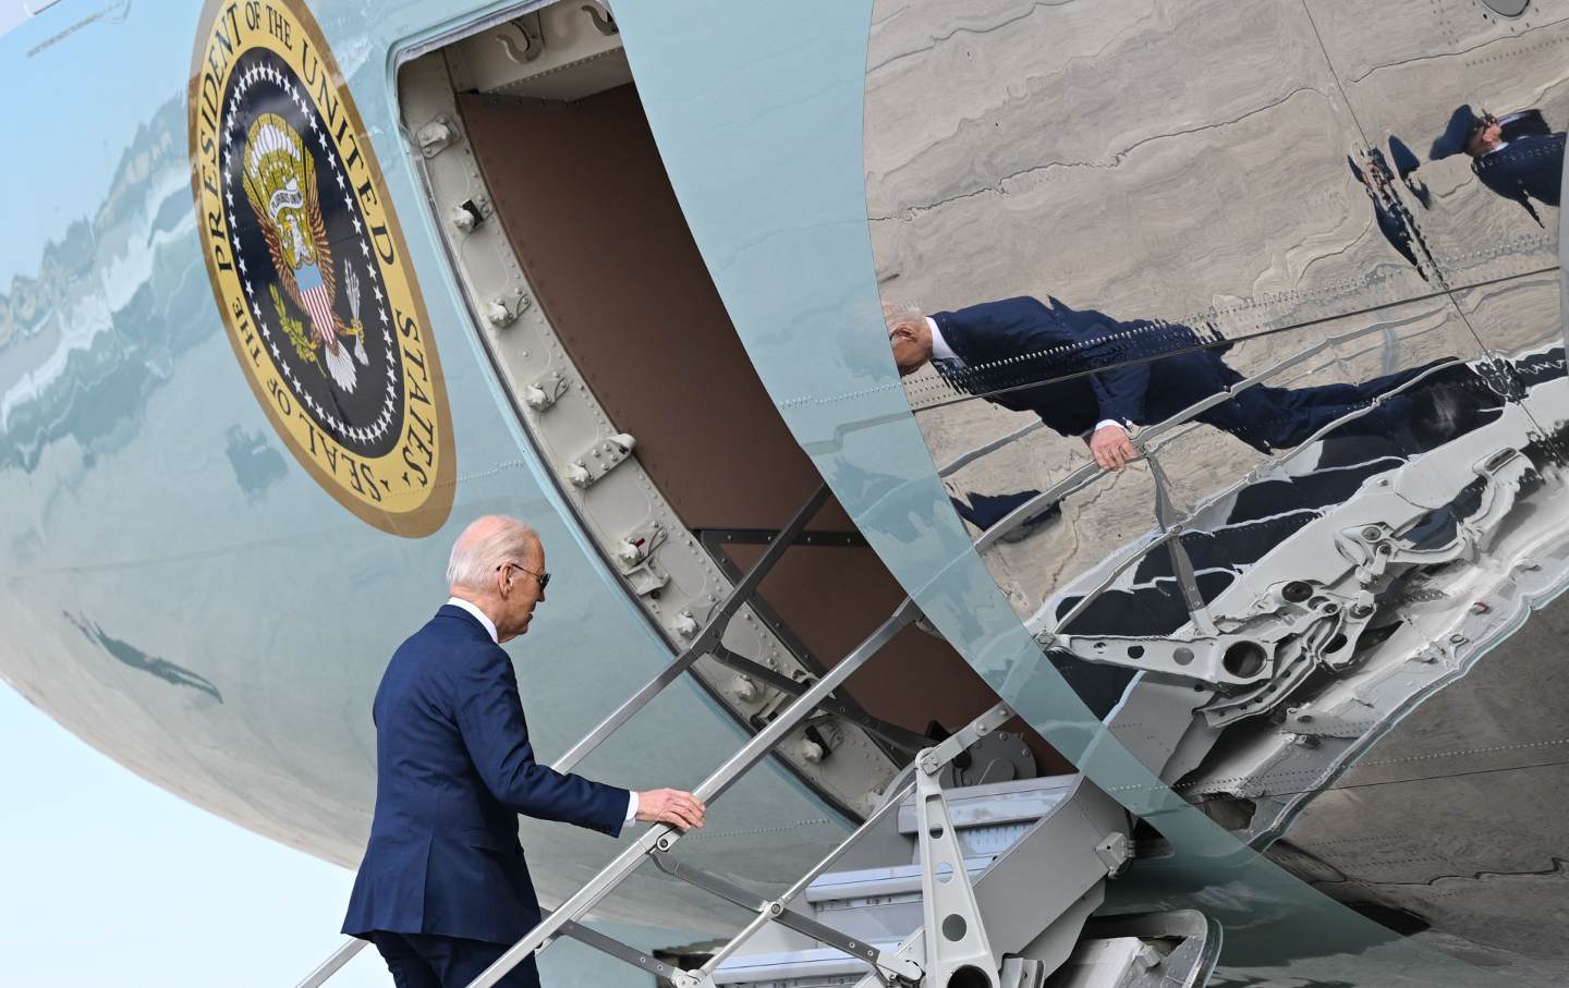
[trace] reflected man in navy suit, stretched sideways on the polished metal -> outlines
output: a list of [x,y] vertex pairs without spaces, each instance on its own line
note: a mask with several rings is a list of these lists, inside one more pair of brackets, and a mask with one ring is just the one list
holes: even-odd
[[[888,340],[901,375],[927,362],[954,387],[1012,411],[1031,411],[1064,436],[1081,436],[1103,469],[1120,470],[1138,456],[1136,425],[1161,422],[1244,378],[1221,348],[1178,323],[1119,321],[1056,298],[1006,298],[930,317],[912,306],[886,306]],[[1426,372],[1417,367],[1362,384],[1269,387],[1255,384],[1211,405],[1194,419],[1269,453],[1315,431]],[[1337,436],[1453,433],[1453,401],[1417,405],[1392,395],[1373,411],[1337,427]]]

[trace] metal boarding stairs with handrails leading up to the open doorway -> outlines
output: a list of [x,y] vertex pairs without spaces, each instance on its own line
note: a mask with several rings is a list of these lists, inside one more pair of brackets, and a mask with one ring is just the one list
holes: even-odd
[[[725,651],[725,627],[827,500],[816,491],[706,626],[665,670],[554,765],[570,772],[703,656]],[[714,803],[844,681],[921,616],[905,599],[821,677],[795,684],[789,707],[697,789]],[[726,663],[745,659],[728,656]],[[1218,927],[1196,913],[1089,921],[1108,880],[1131,858],[1127,811],[1081,775],[1034,778],[1034,759],[998,728],[996,704],[916,753],[865,823],[778,895],[761,895],[681,861],[679,828],[656,823],[549,913],[468,988],[491,988],[560,938],[640,968],[676,988],[1197,988],[1219,950]],[[883,725],[865,721],[869,729]],[[890,731],[897,729],[888,726]],[[908,732],[897,737],[907,742]],[[582,925],[645,864],[701,889],[747,917],[697,969],[678,969]],[[836,869],[836,870],[830,870]],[[364,941],[351,939],[298,988],[325,985]]]

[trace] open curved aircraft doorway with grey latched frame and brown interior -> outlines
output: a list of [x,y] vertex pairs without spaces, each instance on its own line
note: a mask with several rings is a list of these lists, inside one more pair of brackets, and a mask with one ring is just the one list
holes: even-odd
[[[821,477],[714,289],[617,36],[576,6],[546,8],[406,64],[400,97],[526,431],[584,533],[681,651]],[[904,596],[832,499],[806,530],[722,649],[797,681],[838,662]],[[715,659],[693,671],[748,729],[789,699]],[[844,693],[849,715],[814,718],[780,754],[850,817],[876,805],[916,736],[995,703],[946,641],[916,627]],[[1039,772],[1067,768],[1023,725],[1007,729],[1025,732]]]

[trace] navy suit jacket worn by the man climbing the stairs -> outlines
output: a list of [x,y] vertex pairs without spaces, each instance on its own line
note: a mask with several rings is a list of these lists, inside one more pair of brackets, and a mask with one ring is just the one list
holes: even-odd
[[540,921],[518,817],[621,833],[628,790],[533,761],[507,652],[444,605],[377,690],[377,811],[344,933],[515,943]]

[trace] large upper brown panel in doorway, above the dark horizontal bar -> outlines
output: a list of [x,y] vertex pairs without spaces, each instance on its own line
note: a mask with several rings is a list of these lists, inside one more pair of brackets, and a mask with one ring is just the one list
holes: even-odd
[[687,525],[789,521],[822,480],[730,325],[632,86],[458,108],[535,300]]

